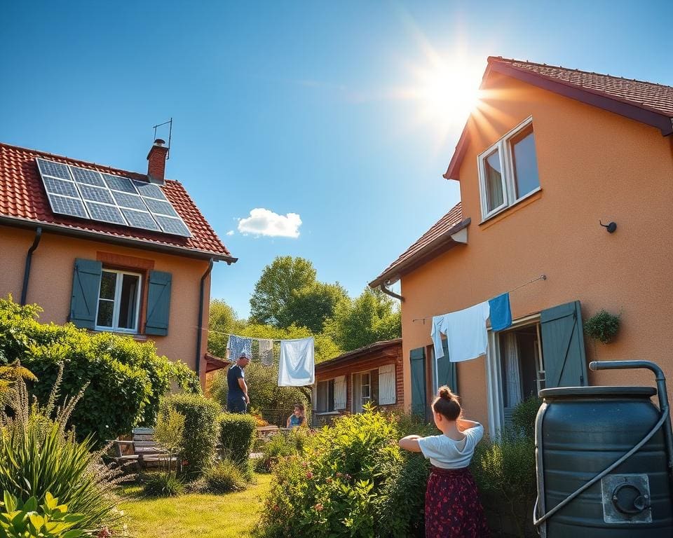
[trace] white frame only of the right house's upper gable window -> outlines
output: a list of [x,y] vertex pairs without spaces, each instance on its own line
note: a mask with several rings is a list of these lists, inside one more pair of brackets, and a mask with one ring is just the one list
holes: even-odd
[[[515,186],[515,170],[514,170],[514,158],[512,156],[512,146],[510,141],[519,135],[522,131],[533,125],[533,116],[529,116],[522,123],[519,123],[514,129],[508,132],[504,137],[502,137],[498,142],[490,146],[486,151],[477,156],[477,167],[479,170],[479,188],[480,188],[480,199],[482,204],[482,222],[487,221],[492,216],[496,216],[498,213],[505,211],[508,207],[515,205],[529,196],[537,193],[541,190],[541,186],[533,188],[529,193],[524,194],[523,196],[517,198],[517,188]],[[535,132],[535,127],[533,127],[533,133]],[[494,151],[498,151],[498,157],[500,158],[500,169],[502,170],[501,179],[503,181],[503,203],[498,207],[494,207],[489,212],[488,209],[488,194],[486,186],[486,159],[491,156]],[[537,158],[537,147],[536,147],[536,158]]]

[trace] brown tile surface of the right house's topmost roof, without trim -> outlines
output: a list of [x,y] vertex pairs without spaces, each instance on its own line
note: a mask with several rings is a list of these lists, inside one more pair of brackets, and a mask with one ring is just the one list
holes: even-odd
[[613,99],[673,118],[673,88],[671,86],[499,56],[489,57],[489,64],[493,62],[509,64],[515,69],[530,71],[538,76],[578,86],[590,92],[609,95]]

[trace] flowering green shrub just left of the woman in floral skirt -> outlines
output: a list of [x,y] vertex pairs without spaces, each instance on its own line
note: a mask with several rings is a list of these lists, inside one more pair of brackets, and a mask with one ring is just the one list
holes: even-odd
[[[403,458],[393,418],[369,408],[308,436],[273,469],[258,537],[380,536],[382,494]],[[407,537],[400,532],[390,534]]]

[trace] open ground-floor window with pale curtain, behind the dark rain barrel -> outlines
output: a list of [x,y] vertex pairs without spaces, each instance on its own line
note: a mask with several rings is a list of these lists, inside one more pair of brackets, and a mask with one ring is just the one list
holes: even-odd
[[526,325],[497,333],[503,418],[510,424],[514,408],[544,388],[540,325]]

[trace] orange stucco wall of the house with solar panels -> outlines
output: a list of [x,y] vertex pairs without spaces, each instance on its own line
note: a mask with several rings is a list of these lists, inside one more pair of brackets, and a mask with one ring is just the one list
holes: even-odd
[[[0,226],[0,296],[12,294],[15,301],[20,300],[26,253],[34,235],[32,230]],[[27,303],[38,303],[44,309],[41,321],[67,322],[75,258],[95,260],[99,253],[151,260],[154,262],[154,269],[171,273],[168,336],[152,336],[151,339],[155,341],[160,354],[165,354],[172,360],[179,359],[196,369],[199,284],[208,268],[208,261],[45,232],[33,254],[27,294]],[[147,290],[144,289],[143,293],[147,293]],[[210,278],[206,280],[203,305],[206,327],[209,298]],[[143,339],[142,336],[138,338]],[[205,354],[207,345],[208,333],[204,331],[201,357]],[[205,380],[205,363],[201,364],[201,372]]]

